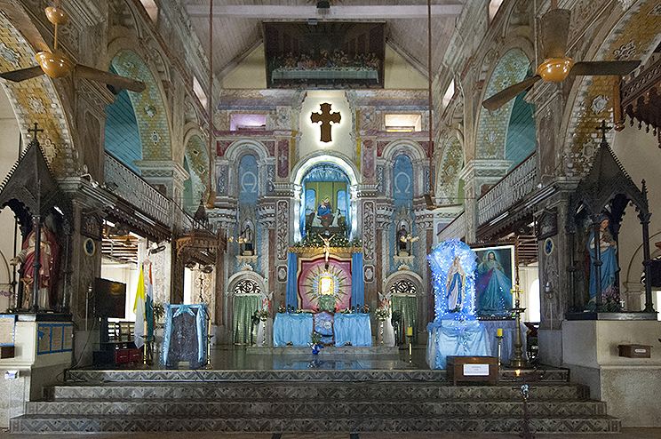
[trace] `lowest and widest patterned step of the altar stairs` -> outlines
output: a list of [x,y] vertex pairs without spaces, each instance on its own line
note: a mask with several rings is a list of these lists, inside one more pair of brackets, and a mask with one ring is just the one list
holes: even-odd
[[[546,417],[530,419],[533,432],[618,432],[620,421],[609,416]],[[22,415],[10,420],[12,433],[49,432],[515,432],[522,431],[521,418],[482,417],[314,417],[314,418],[160,418],[157,416],[53,416]]]

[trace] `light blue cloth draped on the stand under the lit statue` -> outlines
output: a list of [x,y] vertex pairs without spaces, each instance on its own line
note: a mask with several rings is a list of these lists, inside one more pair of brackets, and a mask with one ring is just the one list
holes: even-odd
[[487,330],[477,320],[443,319],[427,324],[426,363],[445,369],[447,356],[490,356]]

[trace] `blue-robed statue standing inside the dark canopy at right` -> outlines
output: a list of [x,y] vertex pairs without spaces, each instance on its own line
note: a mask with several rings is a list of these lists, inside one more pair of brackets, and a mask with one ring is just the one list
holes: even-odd
[[[587,242],[590,251],[590,304],[596,303],[596,295],[599,287],[597,284],[597,267],[594,266],[594,260],[597,253],[594,250],[594,232],[590,234]],[[617,296],[616,273],[619,271],[617,265],[617,243],[613,240],[609,230],[609,219],[602,218],[599,224],[599,249],[601,259],[601,297]],[[590,306],[588,306],[590,307]],[[592,305],[594,307],[594,305]]]

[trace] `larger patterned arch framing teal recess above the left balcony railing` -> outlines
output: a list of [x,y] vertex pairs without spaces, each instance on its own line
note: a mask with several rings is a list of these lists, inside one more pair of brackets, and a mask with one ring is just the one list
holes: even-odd
[[131,50],[117,52],[111,65],[119,75],[139,79],[147,86],[141,93],[128,92],[138,121],[142,160],[171,160],[168,108],[150,68],[136,52]]

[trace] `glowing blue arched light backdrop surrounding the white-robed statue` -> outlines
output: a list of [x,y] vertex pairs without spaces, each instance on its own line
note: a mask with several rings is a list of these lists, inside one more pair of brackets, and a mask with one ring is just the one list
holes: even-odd
[[[464,298],[461,300],[460,310],[450,312],[448,309],[448,291],[446,281],[448,271],[455,257],[458,256],[466,283],[464,285]],[[439,243],[427,256],[432,268],[434,278],[434,321],[440,319],[466,320],[475,318],[475,268],[477,267],[477,256],[475,252],[458,239],[450,239]]]

